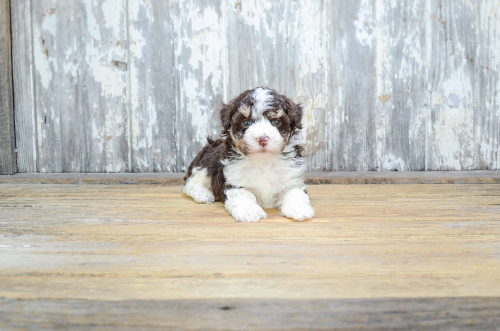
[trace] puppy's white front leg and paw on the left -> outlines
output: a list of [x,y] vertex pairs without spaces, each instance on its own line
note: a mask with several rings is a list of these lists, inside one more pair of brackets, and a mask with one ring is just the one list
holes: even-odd
[[225,193],[226,210],[238,222],[258,222],[261,218],[267,218],[266,212],[257,205],[257,198],[252,192],[245,189],[229,189]]

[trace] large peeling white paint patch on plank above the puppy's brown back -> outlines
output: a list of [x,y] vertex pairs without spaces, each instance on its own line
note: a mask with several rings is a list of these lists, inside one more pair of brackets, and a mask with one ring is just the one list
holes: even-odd
[[[179,57],[177,72],[181,79],[181,98],[179,109],[189,114],[190,126],[193,129],[195,142],[203,146],[207,135],[211,133],[211,123],[217,119],[219,105],[215,103],[215,95],[221,95],[224,69],[223,43],[225,38],[221,27],[220,8],[207,5],[197,6],[194,2],[181,3],[179,41],[175,54]],[[183,56],[185,55],[185,56]],[[192,158],[191,154],[184,155]]]

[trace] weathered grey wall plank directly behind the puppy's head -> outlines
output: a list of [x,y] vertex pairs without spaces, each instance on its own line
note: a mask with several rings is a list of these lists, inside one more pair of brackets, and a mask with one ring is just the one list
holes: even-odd
[[268,86],[302,103],[311,170],[327,169],[326,3],[242,1],[227,8],[230,97]]

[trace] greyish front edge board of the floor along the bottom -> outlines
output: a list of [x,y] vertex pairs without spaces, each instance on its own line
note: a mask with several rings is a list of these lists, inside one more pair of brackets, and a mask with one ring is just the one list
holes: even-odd
[[[22,314],[20,313],[22,312]],[[117,330],[498,330],[500,299],[2,299],[0,326]]]

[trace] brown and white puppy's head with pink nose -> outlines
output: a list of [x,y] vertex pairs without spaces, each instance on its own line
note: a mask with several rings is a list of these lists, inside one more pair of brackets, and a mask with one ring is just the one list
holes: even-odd
[[259,87],[241,93],[220,110],[222,134],[246,156],[265,159],[279,154],[302,129],[302,107],[285,95]]

